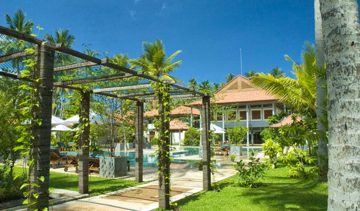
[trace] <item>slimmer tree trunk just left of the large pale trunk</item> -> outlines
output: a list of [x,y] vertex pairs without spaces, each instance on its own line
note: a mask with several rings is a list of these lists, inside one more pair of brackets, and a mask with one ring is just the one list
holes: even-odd
[[[320,13],[320,2],[314,0],[315,9],[315,46],[316,46],[316,65],[319,68],[324,68],[324,36],[323,28],[321,26],[321,13]],[[324,118],[324,100],[325,90],[321,87],[325,81],[321,77],[316,77],[316,119],[317,129],[319,133],[318,141],[318,165],[320,168],[318,179],[320,181],[327,181],[328,171],[328,156],[327,156],[327,140],[326,140],[326,127],[321,123],[321,119]]]

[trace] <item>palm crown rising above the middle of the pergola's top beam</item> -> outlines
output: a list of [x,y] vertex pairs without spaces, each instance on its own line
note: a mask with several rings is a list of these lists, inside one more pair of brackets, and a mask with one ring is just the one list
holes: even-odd
[[165,49],[160,39],[156,39],[154,43],[143,42],[144,53],[138,59],[130,59],[131,68],[137,67],[145,74],[155,76],[164,80],[181,82],[181,80],[172,77],[169,73],[178,68],[182,60],[171,63],[172,59],[181,51],[172,53],[166,58]]

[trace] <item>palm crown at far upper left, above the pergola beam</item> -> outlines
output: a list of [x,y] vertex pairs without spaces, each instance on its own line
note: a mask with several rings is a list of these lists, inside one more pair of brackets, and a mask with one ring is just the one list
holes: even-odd
[[34,23],[31,20],[25,22],[25,18],[26,13],[23,13],[21,9],[17,10],[13,18],[5,13],[5,21],[10,29],[30,35],[33,32]]

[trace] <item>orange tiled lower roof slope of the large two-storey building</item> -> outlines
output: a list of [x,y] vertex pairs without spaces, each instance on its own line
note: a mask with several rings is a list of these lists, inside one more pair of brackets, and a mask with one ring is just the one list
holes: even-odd
[[[251,103],[261,101],[276,101],[277,98],[267,94],[265,90],[240,91],[215,94],[216,104]],[[213,101],[213,100],[212,100]],[[188,105],[201,105],[201,101],[189,103]]]

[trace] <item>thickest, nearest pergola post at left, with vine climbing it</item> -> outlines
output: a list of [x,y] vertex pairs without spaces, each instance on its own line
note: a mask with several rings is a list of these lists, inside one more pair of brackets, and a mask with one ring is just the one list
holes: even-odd
[[[28,211],[35,209],[42,210],[49,208],[49,175],[50,175],[50,143],[51,143],[51,104],[52,104],[52,83],[54,69],[54,46],[48,42],[35,46],[34,60],[36,65],[33,74],[33,87],[36,88],[34,101],[39,102],[39,107],[32,108],[34,120],[41,120],[41,124],[34,123],[31,129],[34,139],[30,146],[30,159],[34,160],[29,167],[29,183],[36,183],[29,186],[29,203],[36,202],[29,206]],[[36,82],[36,79],[41,79]],[[44,182],[39,178],[44,176]],[[34,194],[38,193],[37,199]]]

